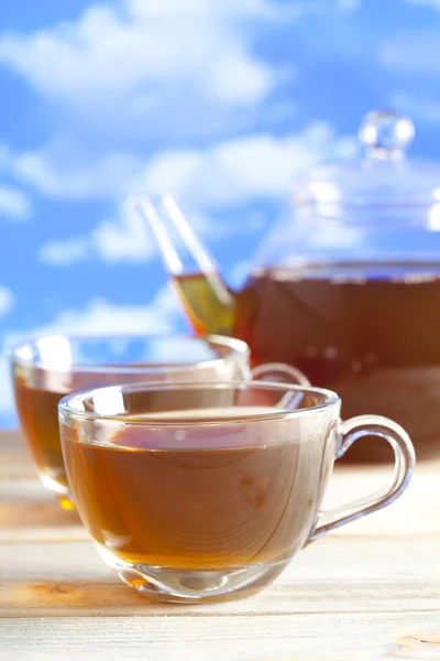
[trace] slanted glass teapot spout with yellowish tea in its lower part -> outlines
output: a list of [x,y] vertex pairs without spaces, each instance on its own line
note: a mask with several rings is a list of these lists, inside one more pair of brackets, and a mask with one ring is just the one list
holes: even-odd
[[156,239],[165,268],[195,332],[198,335],[231,335],[235,295],[175,199],[166,195],[158,205],[147,197],[132,202]]

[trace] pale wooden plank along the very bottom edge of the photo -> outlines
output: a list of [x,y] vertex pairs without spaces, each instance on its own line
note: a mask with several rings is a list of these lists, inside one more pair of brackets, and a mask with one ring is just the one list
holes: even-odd
[[1,661],[439,659],[438,614],[0,620]]

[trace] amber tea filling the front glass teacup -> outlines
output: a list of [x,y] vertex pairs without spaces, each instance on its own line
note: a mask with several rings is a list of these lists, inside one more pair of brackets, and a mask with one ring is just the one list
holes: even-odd
[[[237,420],[245,409],[168,412],[167,418]],[[267,427],[264,445],[256,445],[253,429],[255,423],[241,447],[216,447],[219,432],[212,427],[197,447],[185,447],[184,436],[176,444],[169,427],[155,447],[142,426],[119,432],[105,445],[78,443],[66,431],[69,481],[99,548],[124,563],[187,570],[288,559],[317,516],[323,438],[277,443]]]

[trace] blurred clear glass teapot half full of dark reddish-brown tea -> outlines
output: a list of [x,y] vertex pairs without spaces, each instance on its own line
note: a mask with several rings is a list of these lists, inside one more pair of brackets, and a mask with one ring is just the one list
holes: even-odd
[[[343,416],[383,414],[419,455],[440,454],[440,166],[406,158],[413,122],[362,121],[361,160],[323,163],[290,202],[232,292],[175,202],[135,202],[197,333],[248,342],[336,390]],[[385,458],[372,440],[367,456]],[[356,457],[353,457],[356,458]],[[358,457],[361,458],[361,457]]]

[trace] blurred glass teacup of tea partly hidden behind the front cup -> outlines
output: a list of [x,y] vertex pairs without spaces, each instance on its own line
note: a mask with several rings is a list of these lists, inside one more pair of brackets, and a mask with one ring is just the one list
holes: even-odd
[[[58,402],[68,392],[138,381],[250,378],[249,360],[245,343],[215,335],[48,335],[19,345],[11,356],[15,404],[42,483],[56,495],[64,509],[74,509],[57,414]],[[279,366],[275,368],[279,372]],[[265,373],[271,378],[275,372],[267,366]],[[283,375],[290,382],[307,382],[299,371],[287,366]]]

